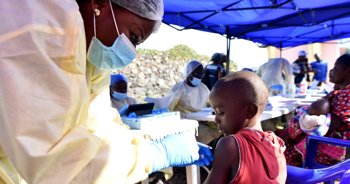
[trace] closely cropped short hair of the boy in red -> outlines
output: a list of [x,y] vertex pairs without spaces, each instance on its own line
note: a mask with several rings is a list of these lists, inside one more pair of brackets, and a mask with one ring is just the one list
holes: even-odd
[[268,89],[261,78],[251,71],[236,71],[216,82],[212,90],[222,90],[225,94],[232,94],[233,103],[242,106],[255,103],[259,107],[260,115],[264,112]]

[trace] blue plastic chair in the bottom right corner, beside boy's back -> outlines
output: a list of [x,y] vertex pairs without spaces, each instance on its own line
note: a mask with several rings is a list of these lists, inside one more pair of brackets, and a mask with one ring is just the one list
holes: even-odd
[[341,178],[339,184],[350,184],[350,159],[322,169],[304,169],[287,165],[287,183],[315,184]]

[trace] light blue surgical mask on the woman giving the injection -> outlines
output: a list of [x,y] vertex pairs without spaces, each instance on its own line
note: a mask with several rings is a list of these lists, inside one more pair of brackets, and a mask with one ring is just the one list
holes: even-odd
[[[113,10],[112,15],[114,19]],[[95,14],[93,15],[95,36],[92,37],[89,49],[87,50],[86,58],[87,61],[90,61],[100,70],[119,70],[125,68],[131,63],[132,60],[135,59],[136,55],[138,54],[137,50],[132,45],[131,41],[125,36],[125,34],[119,34],[115,19],[114,24],[116,25],[118,38],[116,41],[114,41],[111,47],[107,47],[96,38]]]

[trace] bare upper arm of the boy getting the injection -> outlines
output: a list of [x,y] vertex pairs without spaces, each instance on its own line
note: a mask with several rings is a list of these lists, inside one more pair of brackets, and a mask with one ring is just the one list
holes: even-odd
[[213,167],[203,184],[231,182],[238,172],[239,163],[236,139],[232,136],[221,138],[215,148]]

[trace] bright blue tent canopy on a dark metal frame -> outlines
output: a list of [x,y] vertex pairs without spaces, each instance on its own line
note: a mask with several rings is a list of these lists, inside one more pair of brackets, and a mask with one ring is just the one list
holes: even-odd
[[163,0],[163,22],[290,47],[350,36],[350,0]]

